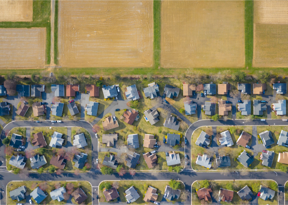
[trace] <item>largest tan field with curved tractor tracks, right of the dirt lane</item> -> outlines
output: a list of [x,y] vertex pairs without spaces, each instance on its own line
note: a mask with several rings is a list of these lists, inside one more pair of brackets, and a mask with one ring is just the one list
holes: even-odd
[[63,67],[153,65],[153,1],[59,1]]

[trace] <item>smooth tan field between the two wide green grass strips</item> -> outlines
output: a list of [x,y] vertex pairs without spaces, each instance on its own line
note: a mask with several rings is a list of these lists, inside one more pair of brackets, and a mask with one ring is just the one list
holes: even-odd
[[162,67],[244,67],[244,1],[162,1]]

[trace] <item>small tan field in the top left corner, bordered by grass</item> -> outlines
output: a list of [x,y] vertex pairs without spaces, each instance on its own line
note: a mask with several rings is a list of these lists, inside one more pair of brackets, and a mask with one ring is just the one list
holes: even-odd
[[32,21],[33,1],[0,1],[0,21]]

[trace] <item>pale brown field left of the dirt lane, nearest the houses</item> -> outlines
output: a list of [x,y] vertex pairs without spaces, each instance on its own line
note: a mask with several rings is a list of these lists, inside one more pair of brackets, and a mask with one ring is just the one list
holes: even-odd
[[0,68],[45,65],[46,28],[0,28]]

